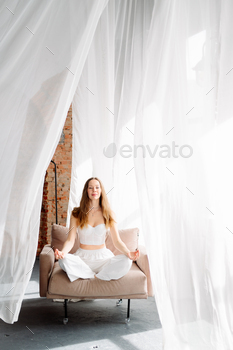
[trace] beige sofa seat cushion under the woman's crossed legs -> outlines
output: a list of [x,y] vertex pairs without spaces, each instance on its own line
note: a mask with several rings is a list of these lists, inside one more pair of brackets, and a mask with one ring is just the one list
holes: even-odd
[[72,298],[117,298],[120,296],[147,297],[146,275],[132,263],[130,271],[122,278],[112,281],[98,279],[77,279],[70,282],[67,274],[60,268],[58,262],[49,281],[48,293],[59,297]]

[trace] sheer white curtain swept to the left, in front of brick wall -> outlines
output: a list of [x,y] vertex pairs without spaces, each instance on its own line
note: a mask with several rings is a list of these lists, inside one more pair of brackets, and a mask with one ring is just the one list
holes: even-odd
[[1,1],[0,317],[17,321],[45,171],[107,0]]

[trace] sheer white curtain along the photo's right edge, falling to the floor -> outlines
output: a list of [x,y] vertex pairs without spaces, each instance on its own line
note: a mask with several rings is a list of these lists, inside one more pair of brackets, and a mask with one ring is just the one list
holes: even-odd
[[135,171],[169,350],[233,343],[231,11],[155,1],[146,44],[135,143],[165,153],[135,158]]

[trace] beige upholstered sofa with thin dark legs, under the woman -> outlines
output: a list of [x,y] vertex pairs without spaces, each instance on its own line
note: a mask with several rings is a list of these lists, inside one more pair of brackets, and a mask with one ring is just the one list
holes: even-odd
[[[140,258],[132,263],[130,271],[119,280],[101,281],[98,279],[77,279],[70,282],[67,274],[55,261],[54,250],[62,249],[67,238],[68,228],[54,224],[51,232],[51,245],[44,246],[40,254],[40,296],[48,299],[64,299],[65,317],[63,323],[68,322],[68,299],[128,299],[126,322],[130,320],[130,299],[146,299],[153,295],[150,270],[146,250],[138,247],[138,228],[119,230],[120,237],[130,251],[138,247]],[[113,245],[110,234],[106,237],[106,247],[115,255],[121,254]],[[70,253],[79,247],[78,235]],[[119,303],[118,303],[119,304]]]

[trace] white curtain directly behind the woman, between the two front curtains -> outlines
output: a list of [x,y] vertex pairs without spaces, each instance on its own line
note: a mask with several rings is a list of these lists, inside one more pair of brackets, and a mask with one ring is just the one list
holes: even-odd
[[134,155],[125,149],[133,149],[134,144],[144,43],[153,5],[152,0],[111,0],[100,18],[72,104],[67,225],[72,208],[79,205],[85,181],[97,176],[109,193],[118,228],[141,227]]

